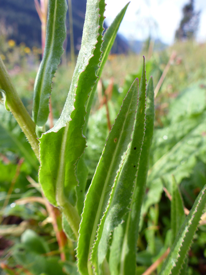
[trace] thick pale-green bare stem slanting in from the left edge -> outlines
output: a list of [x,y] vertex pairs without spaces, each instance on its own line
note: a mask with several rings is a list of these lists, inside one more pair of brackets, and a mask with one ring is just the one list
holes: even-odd
[[28,139],[31,148],[33,149],[37,159],[39,160],[39,146],[38,139],[35,134],[35,123],[23,105],[12,80],[6,70],[6,67],[0,57],[0,86],[6,93],[7,105],[12,112],[21,130]]

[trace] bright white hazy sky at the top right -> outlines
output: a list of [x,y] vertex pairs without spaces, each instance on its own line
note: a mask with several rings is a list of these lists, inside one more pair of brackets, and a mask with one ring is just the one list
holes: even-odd
[[[189,0],[130,0],[119,28],[128,39],[145,40],[151,34],[154,39],[172,44],[175,31],[182,19],[183,6]],[[128,0],[106,0],[106,23],[110,25]],[[206,41],[206,0],[194,0],[195,11],[201,11],[197,41]]]

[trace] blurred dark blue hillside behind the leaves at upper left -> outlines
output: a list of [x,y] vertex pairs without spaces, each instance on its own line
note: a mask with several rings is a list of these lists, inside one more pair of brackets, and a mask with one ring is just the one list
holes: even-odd
[[[81,45],[81,36],[86,11],[86,0],[72,0],[74,46],[76,53]],[[17,44],[24,42],[28,47],[41,46],[41,23],[34,0],[0,0],[0,24],[8,30],[8,39]],[[70,49],[69,20],[67,15],[67,51]],[[107,28],[107,26],[105,26]],[[120,36],[114,43],[112,53],[126,53],[128,44]]]

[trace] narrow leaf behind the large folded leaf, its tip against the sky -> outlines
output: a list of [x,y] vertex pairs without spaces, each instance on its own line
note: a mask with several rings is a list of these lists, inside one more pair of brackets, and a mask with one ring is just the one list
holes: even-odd
[[[102,45],[102,52],[103,52],[102,53],[102,60],[101,60],[102,62],[100,64],[100,68],[99,68],[99,70],[97,72],[97,76],[99,78],[102,75],[102,71],[103,71],[104,65],[105,65],[105,63],[107,61],[107,58],[108,58],[109,53],[110,53],[110,50],[111,50],[111,48],[112,48],[112,46],[114,44],[114,40],[115,40],[115,38],[117,36],[117,31],[119,29],[119,26],[121,24],[121,21],[122,21],[124,15],[125,15],[125,12],[127,10],[127,7],[129,5],[129,3],[127,3],[125,5],[125,7],[120,11],[120,13],[117,14],[116,18],[114,19],[114,21],[112,22],[112,24],[110,25],[110,27],[107,29],[107,31],[105,32],[105,34],[103,36],[104,42],[103,42],[103,45]],[[133,79],[132,79],[132,81],[133,81]],[[86,105],[87,115],[86,115],[85,126],[87,125],[87,122],[88,122],[88,119],[89,119],[89,114],[90,114],[90,110],[91,110],[91,107],[92,107],[92,102],[93,102],[93,99],[94,99],[94,95],[95,95],[95,92],[96,92],[98,80],[97,80],[95,86],[92,88],[92,91],[91,91],[91,93],[89,95],[89,99],[87,101],[87,105]],[[130,85],[131,85],[131,82],[130,82]],[[85,130],[86,129],[84,129],[84,131]]]

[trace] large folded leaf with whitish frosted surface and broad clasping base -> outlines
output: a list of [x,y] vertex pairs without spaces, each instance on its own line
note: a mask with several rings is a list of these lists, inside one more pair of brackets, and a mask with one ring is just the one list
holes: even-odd
[[[40,138],[39,181],[50,203],[61,206],[72,230],[78,236],[80,218],[76,210],[75,164],[84,152],[82,135],[85,103],[97,79],[101,57],[105,3],[88,0],[81,50],[69,94],[60,119]],[[89,38],[89,39],[88,39]],[[74,223],[74,224],[73,224]]]

